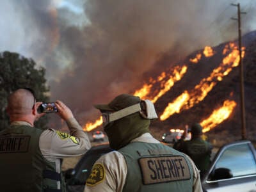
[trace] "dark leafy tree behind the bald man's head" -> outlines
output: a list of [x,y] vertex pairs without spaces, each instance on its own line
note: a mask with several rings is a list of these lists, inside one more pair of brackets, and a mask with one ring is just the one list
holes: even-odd
[[[0,130],[8,127],[9,118],[6,114],[7,98],[17,88],[27,87],[35,91],[36,100],[49,101],[46,85],[45,68],[36,68],[32,59],[24,58],[16,52],[0,53]],[[46,128],[47,116],[43,116],[35,125]]]

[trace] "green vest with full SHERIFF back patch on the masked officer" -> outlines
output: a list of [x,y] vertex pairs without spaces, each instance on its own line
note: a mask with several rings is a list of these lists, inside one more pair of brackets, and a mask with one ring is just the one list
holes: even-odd
[[118,150],[127,163],[123,192],[193,191],[193,169],[184,154],[161,143],[132,142]]

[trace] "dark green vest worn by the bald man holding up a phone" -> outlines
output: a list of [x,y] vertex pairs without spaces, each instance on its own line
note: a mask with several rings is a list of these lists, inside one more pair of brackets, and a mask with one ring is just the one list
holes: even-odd
[[41,134],[41,129],[27,125],[15,125],[0,132],[1,191],[55,192],[57,182],[64,184],[61,175],[56,173],[55,163],[42,156]]

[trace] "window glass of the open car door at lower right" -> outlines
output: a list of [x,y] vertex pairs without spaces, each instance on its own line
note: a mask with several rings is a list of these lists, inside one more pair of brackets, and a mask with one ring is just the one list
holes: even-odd
[[234,145],[225,150],[215,164],[217,168],[228,168],[233,177],[255,174],[256,163],[249,145]]

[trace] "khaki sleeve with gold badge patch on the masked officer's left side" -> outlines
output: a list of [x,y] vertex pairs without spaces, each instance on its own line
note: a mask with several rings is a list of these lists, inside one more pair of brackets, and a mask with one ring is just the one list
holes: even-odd
[[93,165],[84,192],[121,192],[125,184],[126,174],[127,164],[124,156],[120,152],[109,152],[100,157]]

